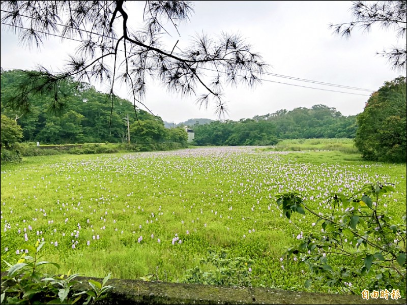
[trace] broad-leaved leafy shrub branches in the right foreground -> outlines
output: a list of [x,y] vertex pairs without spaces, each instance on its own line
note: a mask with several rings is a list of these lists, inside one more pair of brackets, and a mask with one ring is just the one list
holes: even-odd
[[306,288],[315,283],[343,293],[399,289],[406,295],[406,215],[403,223],[397,223],[395,215],[379,208],[381,197],[389,192],[394,192],[392,186],[377,182],[350,197],[332,193],[329,215],[315,212],[299,193],[277,195],[287,218],[292,212],[308,211],[317,218],[312,226],[321,224],[321,231],[301,232],[296,245],[284,254],[308,266],[312,278]]

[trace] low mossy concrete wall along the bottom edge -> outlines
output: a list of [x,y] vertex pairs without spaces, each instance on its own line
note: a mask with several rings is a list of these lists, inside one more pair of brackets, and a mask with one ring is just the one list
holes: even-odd
[[[85,284],[87,279],[80,278]],[[94,279],[101,282],[102,279]],[[405,299],[369,299],[340,295],[285,291],[268,288],[221,287],[198,284],[143,282],[113,279],[114,287],[98,304],[405,304]],[[79,287],[75,287],[78,289]],[[84,288],[84,287],[82,287]]]

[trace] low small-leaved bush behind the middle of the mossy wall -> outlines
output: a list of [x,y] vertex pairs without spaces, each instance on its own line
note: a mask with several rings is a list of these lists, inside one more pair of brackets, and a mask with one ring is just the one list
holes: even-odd
[[223,286],[245,286],[251,287],[251,259],[243,257],[227,258],[227,251],[222,250],[220,254],[209,249],[207,258],[200,259],[200,264],[212,265],[214,270],[202,270],[199,266],[187,270],[183,278],[184,283],[223,285]]

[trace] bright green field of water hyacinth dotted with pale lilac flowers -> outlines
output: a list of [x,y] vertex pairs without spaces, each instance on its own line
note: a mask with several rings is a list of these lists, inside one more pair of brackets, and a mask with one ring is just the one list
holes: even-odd
[[[120,145],[125,149],[128,144]],[[143,146],[151,148],[150,145],[153,144]],[[49,147],[55,149],[57,145]],[[91,277],[103,278],[111,271],[112,277],[120,279],[153,274],[154,280],[157,276],[157,280],[179,282],[186,270],[196,266],[203,272],[216,269],[212,264],[200,265],[199,260],[194,260],[206,258],[207,249],[213,247],[218,254],[220,249],[227,249],[227,258],[252,259],[253,287],[303,291],[305,279],[310,278],[308,268],[293,259],[280,263],[279,258],[297,240],[300,231],[320,231],[321,224],[311,226],[316,217],[310,212],[292,212],[288,220],[270,201],[276,193],[298,192],[308,207],[331,215],[331,205],[324,200],[324,194],[343,188],[338,192],[348,196],[362,188],[365,181],[380,179],[395,183],[398,193],[381,195],[378,211],[387,204],[396,224],[405,213],[405,164],[345,161],[348,157],[335,151],[276,154],[253,148],[211,147],[165,154],[24,158],[22,164],[2,165],[1,255],[14,262],[19,257],[17,249],[26,249],[27,242],[44,237],[48,243],[57,240],[58,246],[44,247],[43,260],[61,263],[60,270],[65,273],[75,266],[74,273]],[[360,195],[362,199],[363,194]],[[371,199],[375,201],[373,196]],[[353,220],[355,223],[356,218]],[[78,245],[72,249],[71,233],[78,229],[78,223]],[[359,220],[357,228],[360,223]],[[24,240],[24,227],[28,241]],[[43,233],[37,236],[37,230]],[[176,233],[182,239],[180,245],[171,243]],[[92,239],[97,234],[100,239]],[[152,234],[154,238],[150,237]],[[141,235],[143,239],[138,243]],[[89,246],[86,240],[91,241]],[[329,260],[335,270],[346,266],[349,259],[344,256]],[[49,268],[44,272],[53,272],[53,266]],[[310,289],[333,291],[319,285]]]

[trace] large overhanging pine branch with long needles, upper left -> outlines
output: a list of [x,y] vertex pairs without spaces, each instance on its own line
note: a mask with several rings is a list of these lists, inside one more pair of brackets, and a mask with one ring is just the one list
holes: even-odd
[[[65,104],[65,80],[106,82],[111,106],[114,85],[123,81],[134,103],[143,104],[148,82],[157,80],[170,92],[200,95],[199,105],[216,103],[216,112],[226,111],[222,87],[226,84],[254,86],[267,68],[261,56],[237,34],[221,33],[217,39],[197,34],[189,47],[177,43],[165,46],[165,24],[188,22],[193,4],[188,1],[146,1],[143,27],[132,29],[134,11],[125,1],[2,1],[2,23],[19,35],[23,45],[40,47],[44,38],[60,36],[63,41],[77,40],[80,46],[58,73],[44,67],[28,72],[19,90],[6,105],[21,111],[30,108],[30,97],[52,93],[48,101],[58,111]],[[181,35],[179,34],[180,38]]]

